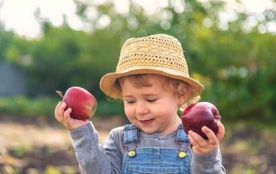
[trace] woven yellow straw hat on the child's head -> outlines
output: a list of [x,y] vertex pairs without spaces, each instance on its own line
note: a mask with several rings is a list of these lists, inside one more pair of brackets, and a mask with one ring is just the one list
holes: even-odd
[[115,87],[116,80],[135,74],[158,74],[180,79],[192,86],[190,97],[198,96],[204,90],[199,81],[189,77],[181,43],[166,34],[128,39],[122,46],[116,72],[103,76],[100,88],[106,95],[122,99]]

